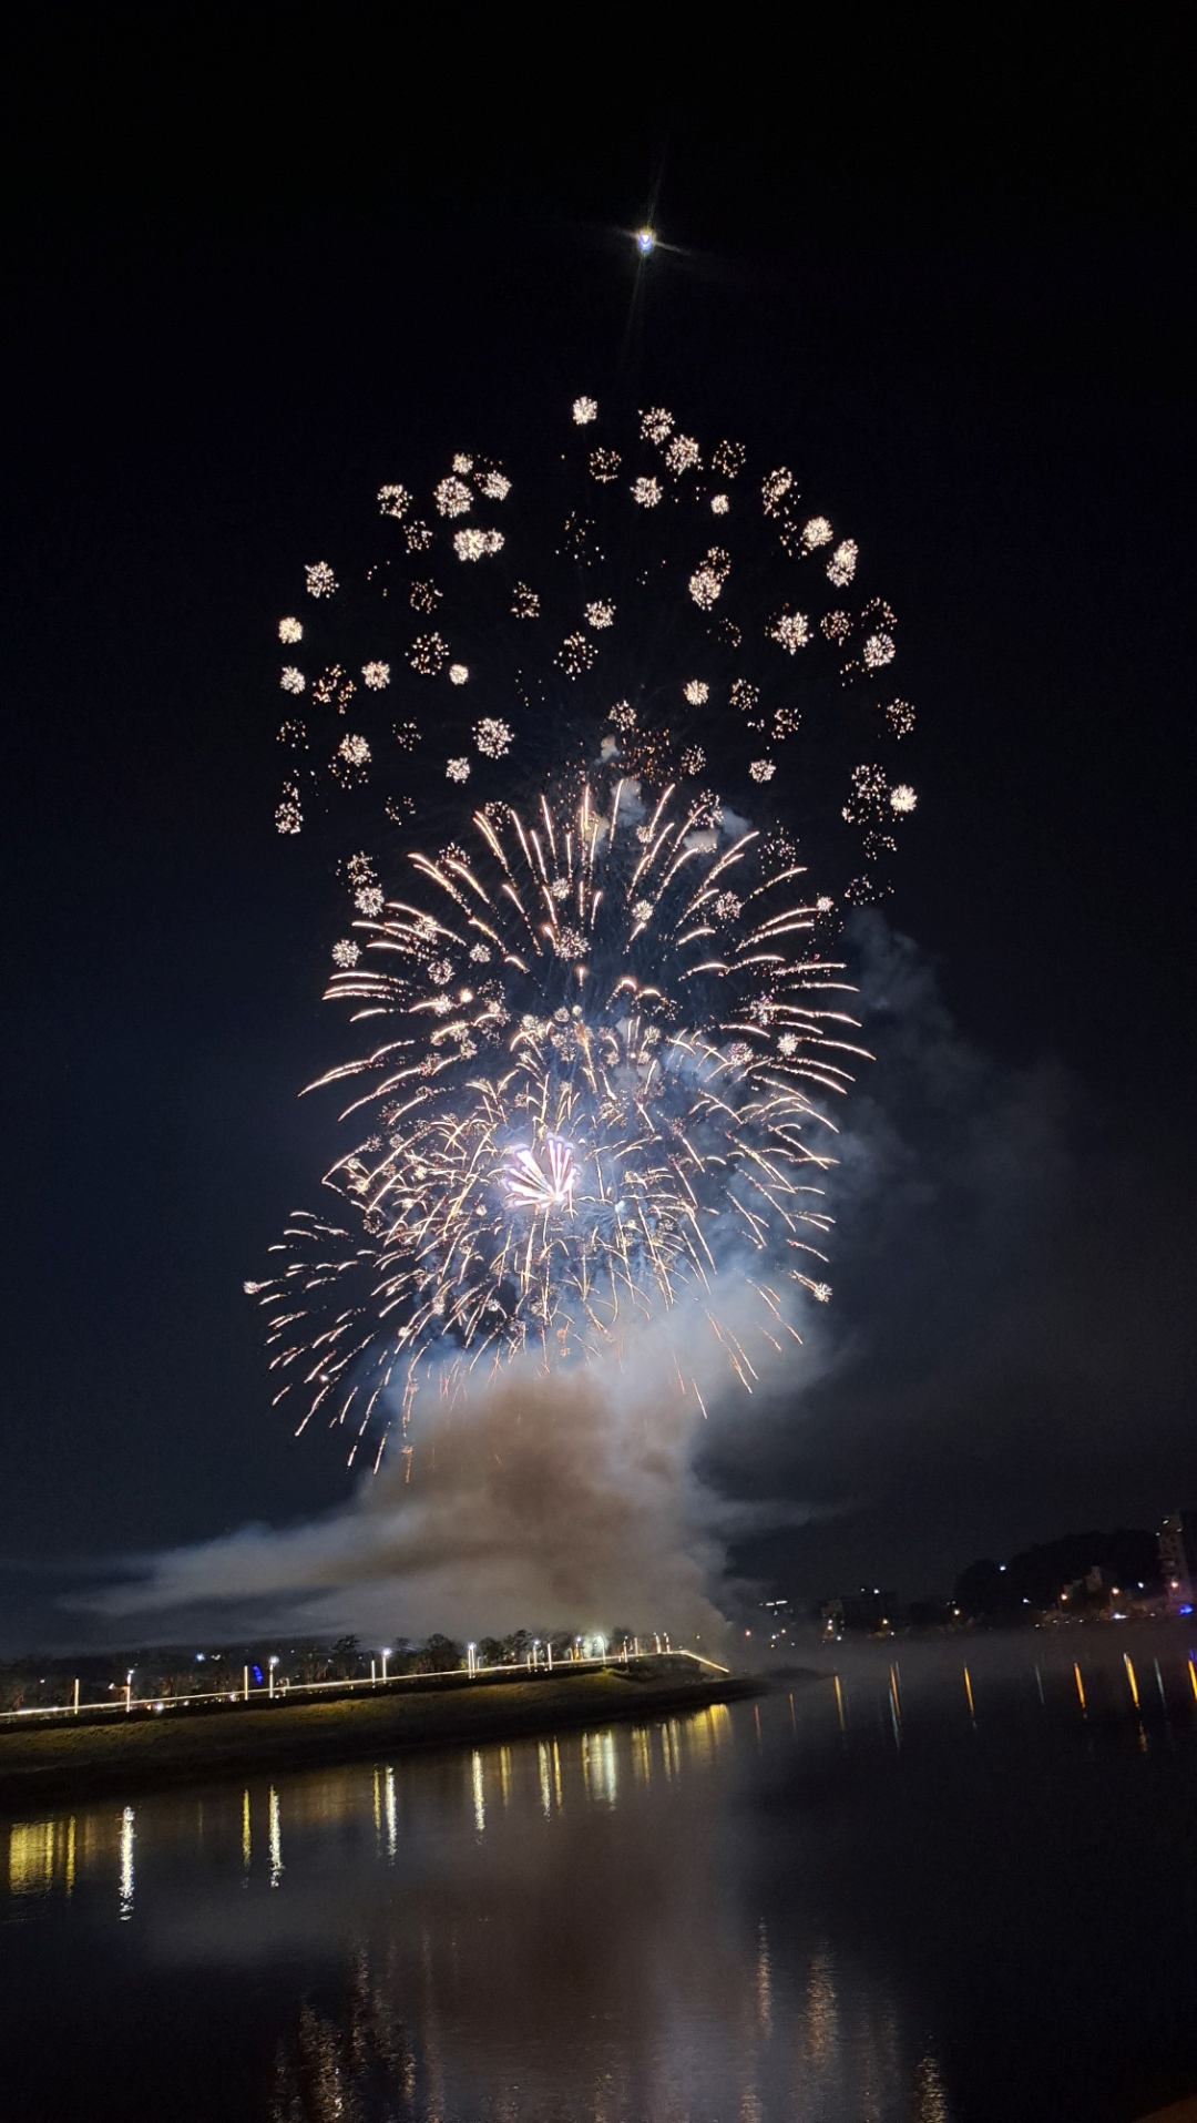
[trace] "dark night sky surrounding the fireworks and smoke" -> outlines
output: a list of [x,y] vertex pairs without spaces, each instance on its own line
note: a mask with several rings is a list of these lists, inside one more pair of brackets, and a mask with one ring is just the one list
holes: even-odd
[[635,374],[851,520],[923,735],[834,1354],[719,1461],[830,1516],[745,1560],[917,1592],[1157,1518],[1197,1497],[1191,55],[1008,13],[422,21],[59,6],[11,55],[8,1635],[79,1558],[348,1492],[240,1293],[337,1036],[327,885],[270,830],[272,628],[416,444],[518,459],[605,389],[658,176],[686,257]]

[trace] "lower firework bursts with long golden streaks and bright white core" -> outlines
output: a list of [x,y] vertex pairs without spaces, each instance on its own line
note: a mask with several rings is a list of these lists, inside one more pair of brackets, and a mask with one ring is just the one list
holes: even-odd
[[[749,1384],[722,1270],[775,1350],[785,1289],[828,1295],[811,1098],[860,1049],[785,836],[719,839],[709,798],[649,813],[613,779],[603,802],[488,805],[469,841],[410,853],[361,955],[333,951],[329,996],[388,1021],[323,1078],[367,1134],[327,1176],[337,1219],[293,1216],[253,1287],[278,1399],[299,1429],[327,1405],[354,1450],[431,1369],[452,1391],[522,1350],[596,1357],[683,1295]],[[348,864],[359,894],[371,870]]]

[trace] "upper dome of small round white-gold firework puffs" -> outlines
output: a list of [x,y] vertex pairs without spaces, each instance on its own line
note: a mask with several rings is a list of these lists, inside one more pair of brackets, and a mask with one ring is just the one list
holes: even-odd
[[[662,405],[609,418],[579,397],[558,439],[535,473],[456,452],[393,480],[371,501],[376,558],[308,565],[306,618],[278,624],[282,688],[329,724],[291,766],[280,830],[348,805],[354,832],[412,819],[439,839],[454,783],[535,800],[548,737],[552,773],[594,764],[607,732],[603,758],[656,790],[709,760],[726,805],[760,819],[766,800],[838,898],[849,877],[853,898],[889,890],[891,836],[862,813],[853,769],[908,737],[915,711],[887,690],[891,607],[853,601],[857,541],[790,467],[753,469]],[[352,758],[331,728],[350,696]],[[906,811],[891,805],[889,824]]]

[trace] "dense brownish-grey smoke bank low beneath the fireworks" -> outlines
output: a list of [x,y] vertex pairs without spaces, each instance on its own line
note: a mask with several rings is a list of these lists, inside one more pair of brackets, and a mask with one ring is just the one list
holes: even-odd
[[[630,1337],[622,1363],[552,1376],[511,1365],[416,1425],[410,1473],[395,1452],[325,1518],[166,1550],[87,1605],[159,1637],[233,1626],[414,1641],[433,1630],[478,1639],[628,1628],[669,1630],[717,1656],[728,1643],[726,1541],[745,1514],[694,1473],[707,1425],[694,1386],[679,1393],[673,1350],[692,1352],[698,1331],[713,1344],[698,1310],[681,1306]],[[796,1374],[804,1352],[790,1348]],[[747,1414],[719,1352],[700,1374],[705,1399],[724,1380],[724,1405],[734,1395]],[[783,1503],[764,1516],[777,1524],[802,1514]],[[760,1522],[760,1505],[749,1518]]]

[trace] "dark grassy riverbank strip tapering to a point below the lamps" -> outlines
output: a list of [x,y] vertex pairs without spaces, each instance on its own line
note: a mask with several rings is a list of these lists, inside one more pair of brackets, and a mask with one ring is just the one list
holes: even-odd
[[475,1745],[565,1726],[702,1709],[756,1694],[743,1675],[607,1667],[562,1677],[395,1686],[333,1701],[261,1698],[216,1711],[70,1722],[0,1732],[0,1807],[202,1781],[248,1768],[308,1768],[363,1754]]

